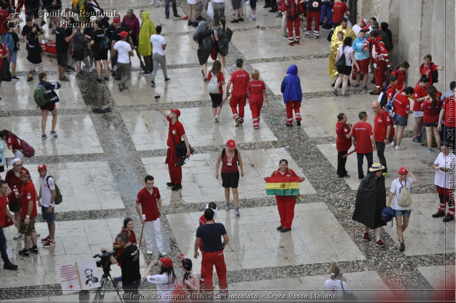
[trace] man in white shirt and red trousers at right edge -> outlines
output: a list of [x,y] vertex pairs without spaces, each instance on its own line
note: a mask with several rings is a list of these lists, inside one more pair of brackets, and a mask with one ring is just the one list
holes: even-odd
[[441,151],[435,159],[434,164],[430,169],[435,169],[434,184],[437,186],[439,194],[439,211],[432,215],[433,218],[445,216],[445,205],[448,203],[448,213],[443,219],[443,222],[454,220],[455,217],[455,201],[454,201],[454,168],[455,154],[450,142],[442,141],[440,143]]

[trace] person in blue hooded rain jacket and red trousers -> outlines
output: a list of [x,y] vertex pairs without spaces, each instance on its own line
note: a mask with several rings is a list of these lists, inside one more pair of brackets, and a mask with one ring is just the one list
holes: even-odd
[[280,91],[284,94],[284,103],[286,107],[286,126],[293,126],[293,110],[295,110],[296,124],[301,126],[301,80],[298,77],[298,67],[296,64],[291,64],[286,71],[288,76],[282,81]]

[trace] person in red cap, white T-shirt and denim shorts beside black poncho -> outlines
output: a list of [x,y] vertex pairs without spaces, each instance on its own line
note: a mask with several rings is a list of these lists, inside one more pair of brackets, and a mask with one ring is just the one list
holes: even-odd
[[[391,189],[389,190],[388,207],[391,205],[391,201],[393,201],[394,197],[394,216],[396,217],[396,232],[399,237],[399,250],[404,251],[405,245],[403,233],[409,225],[412,209],[410,205],[399,205],[398,198],[402,190],[404,190],[404,187],[407,188],[408,193],[410,193],[410,185],[417,183],[418,179],[415,177],[410,168],[406,166],[399,168],[398,173],[399,178],[394,179],[391,183]],[[410,177],[412,178],[407,178],[407,174],[410,174]]]

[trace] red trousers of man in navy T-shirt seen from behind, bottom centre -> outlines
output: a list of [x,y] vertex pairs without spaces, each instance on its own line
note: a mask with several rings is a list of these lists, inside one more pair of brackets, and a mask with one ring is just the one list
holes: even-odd
[[204,292],[212,293],[214,291],[214,285],[212,284],[212,271],[214,270],[214,265],[218,276],[220,293],[228,293],[227,266],[225,265],[223,250],[202,252],[201,276],[204,277]]

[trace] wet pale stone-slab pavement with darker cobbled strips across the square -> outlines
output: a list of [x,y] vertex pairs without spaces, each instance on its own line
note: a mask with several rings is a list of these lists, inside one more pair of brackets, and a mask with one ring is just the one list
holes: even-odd
[[[394,172],[403,165],[414,169],[419,179],[411,189],[413,210],[409,228],[404,232],[406,250],[398,249],[395,223],[393,228],[389,225],[382,229],[381,238],[386,246],[381,248],[372,240],[363,241],[362,225],[352,221],[359,184],[356,156],[347,160],[347,171],[352,178],[338,178],[336,116],[345,112],[349,122],[355,123],[358,112],[366,110],[368,122],[373,124],[371,104],[377,97],[359,89],[348,89],[349,98],[333,96],[326,72],[330,51],[326,30],[321,30],[319,40],[302,39],[300,45],[288,47],[286,39],[281,37],[280,18],[263,9],[263,2],[257,4],[256,21],[245,18],[245,22],[228,24],[234,33],[226,57],[226,79],[234,71],[236,59],[243,58],[249,73],[259,69],[269,96],[269,105],[264,105],[261,111],[259,130],[252,129],[248,106],[244,125],[236,129],[228,106],[223,107],[219,125],[212,123],[207,84],[199,72],[197,45],[191,39],[193,28],[187,27],[187,21],[166,20],[164,5],[150,6],[149,0],[99,2],[106,9],[119,10],[122,16],[130,6],[136,15],[140,9],[151,12],[152,21],[155,26],[163,26],[168,42],[166,57],[171,81],[165,84],[159,70],[155,78],[157,86],[151,87],[150,79],[140,75],[135,55],[132,78],[127,83],[129,89],[120,93],[117,81],[111,76],[109,81],[97,83],[96,73],[88,73],[86,60],[83,70],[88,76],[76,78],[74,72],[66,73],[71,82],[57,92],[62,100],[57,104],[59,136],[41,141],[40,114],[31,97],[37,79],[25,81],[28,62],[20,53],[17,75],[21,81],[3,83],[0,89],[1,127],[10,128],[36,148],[36,156],[26,159],[24,166],[46,163],[62,190],[64,202],[56,207],[54,248],[46,250],[38,244],[38,255],[22,258],[18,254],[22,241],[13,240],[16,230],[5,229],[8,255],[19,269],[16,272],[0,269],[2,301],[77,300],[74,294],[62,296],[57,266],[91,258],[101,246],[111,246],[125,217],[134,219],[136,234],[140,235],[135,197],[143,187],[146,174],[155,177],[161,191],[164,247],[175,264],[179,264],[177,256],[181,253],[192,258],[197,218],[207,202],[218,204],[219,220],[230,237],[225,260],[228,287],[233,294],[254,293],[267,298],[269,293],[295,293],[310,298],[311,293],[321,293],[332,264],[337,264],[352,279],[349,286],[356,289],[360,300],[399,300],[403,296],[423,300],[442,294],[434,289],[441,289],[444,281],[446,285],[454,285],[455,224],[430,217],[436,211],[438,196],[433,185],[434,174],[427,167],[432,165],[437,152],[429,154],[423,146],[411,141],[413,117],[403,139],[407,149],[396,151],[388,146],[385,150],[392,175],[386,179],[387,193]],[[184,16],[186,10],[187,4],[178,1],[178,14]],[[250,12],[247,7],[244,15]],[[230,14],[227,10],[228,21]],[[44,29],[47,36],[52,36],[47,25]],[[209,58],[209,68],[212,62]],[[280,82],[293,63],[298,65],[303,88],[303,121],[301,127],[287,128]],[[43,56],[43,66],[48,78],[57,79],[55,57]],[[183,188],[178,192],[171,192],[165,184],[169,181],[164,164],[166,121],[151,98],[154,94],[161,94],[166,110],[181,110],[181,120],[196,151],[183,167]],[[104,108],[111,112],[93,112]],[[50,122],[48,119],[47,129]],[[246,173],[239,183],[239,217],[233,209],[223,211],[223,188],[213,172],[217,153],[229,138],[236,141],[243,153]],[[12,154],[7,151],[6,156],[10,161]],[[302,200],[296,205],[293,229],[288,233],[274,228],[279,224],[279,215],[275,199],[265,195],[262,180],[277,168],[281,158],[288,159],[290,168],[306,177],[306,182],[301,183]],[[374,162],[378,162],[376,155]],[[32,178],[37,179],[36,170],[31,172]],[[40,216],[37,222],[36,229],[45,235],[46,223]],[[370,236],[374,237],[373,232]],[[143,274],[158,255],[156,247],[153,256],[146,255],[143,246],[140,251]],[[193,263],[199,273],[199,260]],[[119,276],[119,266],[112,269],[112,276]],[[175,270],[181,277],[177,266]],[[218,287],[215,271],[213,278]],[[143,294],[155,293],[150,283],[142,282],[140,288]],[[105,300],[119,301],[112,287],[110,290]]]

